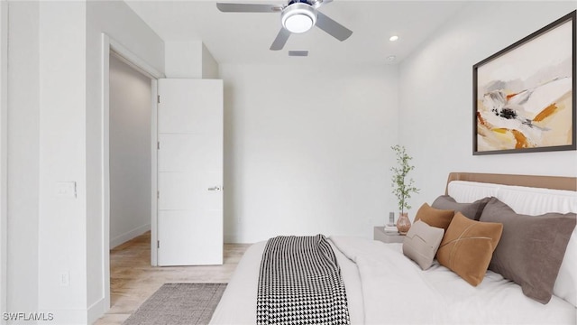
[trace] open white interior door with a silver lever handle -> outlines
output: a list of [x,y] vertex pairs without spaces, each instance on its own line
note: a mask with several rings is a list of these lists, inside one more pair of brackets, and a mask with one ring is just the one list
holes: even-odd
[[223,264],[223,81],[159,79],[158,264]]

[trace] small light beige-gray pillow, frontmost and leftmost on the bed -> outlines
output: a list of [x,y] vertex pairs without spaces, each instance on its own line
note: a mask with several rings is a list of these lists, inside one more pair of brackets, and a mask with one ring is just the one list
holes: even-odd
[[443,240],[443,235],[443,228],[431,227],[417,220],[413,227],[408,229],[407,236],[403,240],[403,254],[426,270],[433,265],[433,259]]

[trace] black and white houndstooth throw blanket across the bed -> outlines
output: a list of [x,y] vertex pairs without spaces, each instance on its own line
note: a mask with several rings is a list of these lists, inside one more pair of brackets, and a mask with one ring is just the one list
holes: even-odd
[[269,239],[256,316],[258,325],[351,323],[341,270],[323,235]]

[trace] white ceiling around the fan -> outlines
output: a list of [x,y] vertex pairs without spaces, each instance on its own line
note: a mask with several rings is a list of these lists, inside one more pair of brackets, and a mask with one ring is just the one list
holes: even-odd
[[[221,0],[224,3],[286,4],[286,1]],[[339,42],[318,28],[292,34],[282,51],[269,47],[280,29],[279,13],[221,13],[216,1],[133,1],[126,3],[165,42],[202,41],[219,63],[232,64],[391,64],[424,42],[464,1],[334,0],[319,11],[353,31]],[[397,42],[389,42],[397,34]],[[289,57],[307,50],[307,58]],[[390,62],[387,57],[394,55]]]

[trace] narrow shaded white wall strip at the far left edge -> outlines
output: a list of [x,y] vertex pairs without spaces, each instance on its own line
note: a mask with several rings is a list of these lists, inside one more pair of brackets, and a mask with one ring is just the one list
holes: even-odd
[[38,310],[39,4],[9,3],[7,310]]

